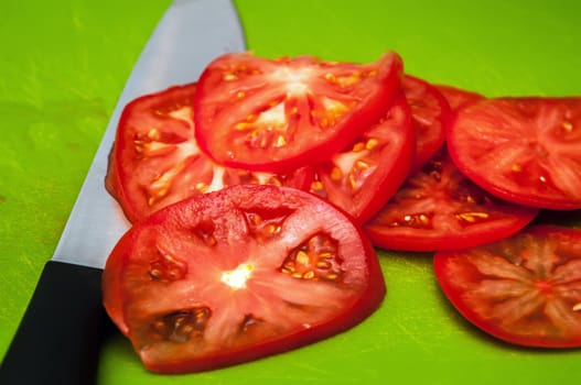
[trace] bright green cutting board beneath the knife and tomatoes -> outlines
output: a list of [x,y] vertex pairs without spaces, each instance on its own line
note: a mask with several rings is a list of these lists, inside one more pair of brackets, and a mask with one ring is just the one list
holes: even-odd
[[[0,356],[53,253],[127,76],[168,4],[0,4]],[[409,74],[487,96],[581,95],[580,4],[236,1],[248,47],[258,55],[369,62],[395,50]],[[148,373],[129,342],[115,336],[104,346],[99,383],[581,382],[581,350],[510,346],[463,320],[438,289],[431,255],[379,257],[386,300],[348,332],[252,363],[180,376]]]

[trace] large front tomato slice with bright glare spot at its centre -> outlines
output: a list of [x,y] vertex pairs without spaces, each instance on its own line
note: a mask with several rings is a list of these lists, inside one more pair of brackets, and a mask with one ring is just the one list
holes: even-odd
[[133,226],[104,304],[155,372],[205,371],[331,337],[381,302],[374,249],[351,217],[294,188],[239,185]]

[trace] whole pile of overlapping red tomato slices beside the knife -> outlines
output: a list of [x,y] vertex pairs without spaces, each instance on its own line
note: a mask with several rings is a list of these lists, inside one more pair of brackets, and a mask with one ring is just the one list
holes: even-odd
[[581,209],[581,98],[434,86],[394,52],[227,54],[126,107],[106,186],[135,224],[105,268],[105,305],[154,371],[361,322],[385,294],[369,241],[434,252],[444,293],[492,336],[581,345],[581,230],[529,226]]

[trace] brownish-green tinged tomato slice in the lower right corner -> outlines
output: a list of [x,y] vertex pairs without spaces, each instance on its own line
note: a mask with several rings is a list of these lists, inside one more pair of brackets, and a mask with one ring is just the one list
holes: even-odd
[[581,346],[581,230],[530,227],[497,243],[434,256],[454,307],[509,343]]

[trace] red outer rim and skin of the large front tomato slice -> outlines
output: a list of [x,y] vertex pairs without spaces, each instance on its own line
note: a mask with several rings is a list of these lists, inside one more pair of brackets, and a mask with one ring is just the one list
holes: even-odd
[[[136,340],[138,337],[135,334],[135,331],[129,324],[130,322],[127,320],[127,311],[130,307],[130,297],[126,292],[127,288],[123,288],[123,276],[127,274],[128,270],[131,268],[131,255],[137,255],[140,253],[140,246],[137,244],[137,242],[140,237],[139,233],[141,229],[148,227],[159,227],[160,229],[164,229],[161,231],[168,231],[181,221],[187,222],[187,211],[195,209],[196,207],[200,208],[206,205],[213,205],[211,200],[214,199],[214,196],[246,196],[249,200],[260,200],[263,199],[262,197],[265,196],[270,196],[272,199],[270,201],[266,201],[265,205],[276,208],[280,199],[280,194],[291,197],[299,202],[303,201],[300,204],[302,206],[312,205],[312,209],[315,209],[315,211],[318,211],[316,207],[321,207],[323,210],[336,211],[337,220],[345,220],[345,227],[351,229],[349,231],[355,231],[356,237],[358,237],[356,242],[359,242],[359,246],[362,248],[366,268],[366,287],[361,293],[358,298],[351,301],[351,305],[342,309],[333,320],[330,320],[324,324],[315,324],[313,327],[302,328],[295,332],[286,334],[283,338],[261,339],[255,341],[251,346],[218,351],[205,356],[196,356],[193,359],[175,356],[174,360],[164,360],[163,362],[157,362],[152,360],[147,352],[142,351],[140,342]],[[194,201],[198,201],[201,206],[196,206],[198,204],[194,204]],[[180,218],[184,215],[185,217]],[[337,223],[335,222],[333,226],[336,224]],[[267,355],[278,354],[304,346],[309,343],[313,343],[344,332],[365,320],[379,307],[386,294],[386,285],[373,245],[369,243],[361,228],[355,222],[353,222],[346,212],[338,208],[332,207],[325,200],[314,195],[303,193],[294,188],[267,185],[238,185],[227,187],[223,190],[207,194],[205,196],[196,196],[173,204],[154,212],[143,221],[135,224],[120,239],[119,243],[111,251],[104,271],[103,290],[104,305],[107,312],[111,317],[114,323],[117,324],[119,330],[125,336],[132,339],[133,348],[136,352],[141,355],[146,367],[157,373],[179,374],[211,371],[224,366],[254,361]]]

